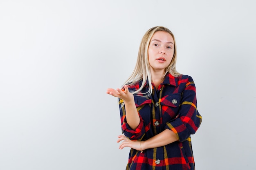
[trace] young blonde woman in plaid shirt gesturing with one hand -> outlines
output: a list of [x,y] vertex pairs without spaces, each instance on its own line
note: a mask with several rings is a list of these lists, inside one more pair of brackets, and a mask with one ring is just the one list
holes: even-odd
[[176,71],[176,43],[163,27],[142,38],[134,71],[117,90],[121,127],[119,148],[130,147],[126,170],[194,170],[190,135],[202,121],[195,84]]

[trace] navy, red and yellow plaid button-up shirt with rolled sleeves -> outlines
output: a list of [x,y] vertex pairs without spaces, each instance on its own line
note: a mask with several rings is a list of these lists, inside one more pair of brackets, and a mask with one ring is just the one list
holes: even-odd
[[[141,83],[129,86],[129,91],[137,90]],[[131,148],[126,170],[194,170],[190,135],[198,130],[202,117],[197,110],[193,79],[188,75],[173,77],[168,73],[158,89],[152,85],[150,97],[134,95],[140,117],[137,129],[129,127],[125,106],[121,108],[122,132],[131,140],[144,141],[169,129],[177,135],[178,141],[142,153]],[[148,83],[141,92],[146,91]],[[120,106],[122,102],[119,99]]]

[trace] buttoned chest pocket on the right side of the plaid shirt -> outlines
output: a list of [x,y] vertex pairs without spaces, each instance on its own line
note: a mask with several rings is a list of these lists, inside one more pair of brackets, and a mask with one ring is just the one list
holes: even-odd
[[161,98],[161,106],[162,106],[162,115],[164,120],[170,121],[174,119],[179,112],[179,106],[181,102],[181,94],[174,93],[171,95],[166,95]]

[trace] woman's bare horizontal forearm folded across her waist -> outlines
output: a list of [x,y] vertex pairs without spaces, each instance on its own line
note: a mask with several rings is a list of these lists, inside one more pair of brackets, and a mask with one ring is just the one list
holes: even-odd
[[150,139],[142,141],[141,148],[142,150],[149,148],[157,148],[160,146],[171,144],[177,140],[177,135],[173,131],[166,129],[163,132],[151,137]]

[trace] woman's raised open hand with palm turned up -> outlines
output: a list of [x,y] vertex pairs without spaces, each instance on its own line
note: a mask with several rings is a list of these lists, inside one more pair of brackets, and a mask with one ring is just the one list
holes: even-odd
[[120,99],[123,99],[125,103],[134,101],[134,97],[133,97],[132,93],[129,92],[127,85],[125,85],[124,89],[122,89],[122,90],[120,90],[119,88],[117,88],[117,90],[115,90],[113,88],[108,88],[107,93],[114,97],[119,97]]

